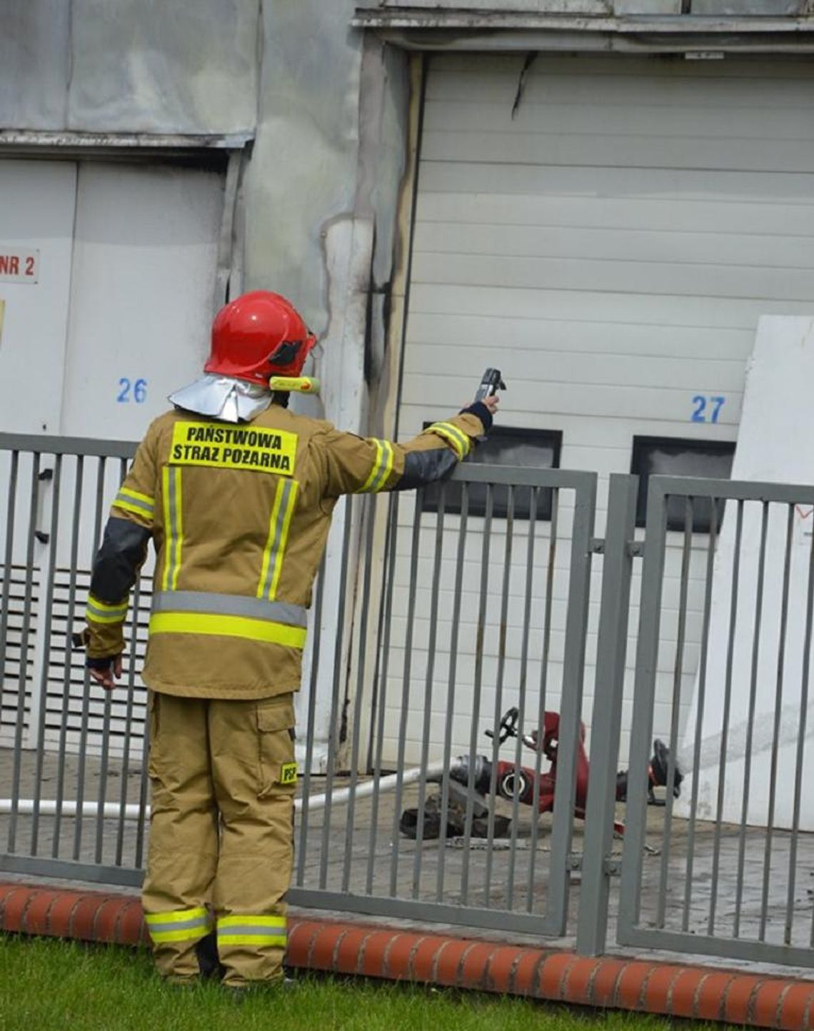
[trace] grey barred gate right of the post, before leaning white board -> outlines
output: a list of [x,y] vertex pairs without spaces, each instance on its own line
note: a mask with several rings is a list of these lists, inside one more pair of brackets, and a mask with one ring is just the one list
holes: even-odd
[[630,777],[621,944],[814,966],[813,510],[810,486],[650,478],[630,768],[662,705],[685,780],[654,808]]

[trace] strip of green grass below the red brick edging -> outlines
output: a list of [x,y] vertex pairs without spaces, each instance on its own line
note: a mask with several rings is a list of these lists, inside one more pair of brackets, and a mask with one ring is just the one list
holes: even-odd
[[666,1020],[418,986],[298,977],[235,1003],[173,989],[149,954],[0,934],[0,1031],[666,1031]]

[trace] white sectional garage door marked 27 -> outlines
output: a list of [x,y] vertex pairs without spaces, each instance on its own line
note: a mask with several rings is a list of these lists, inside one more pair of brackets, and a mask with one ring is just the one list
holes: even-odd
[[[601,533],[607,474],[630,471],[633,437],[734,440],[758,315],[814,310],[814,66],[541,56],[513,117],[522,65],[522,56],[431,60],[400,433],[448,414],[450,399],[462,402],[497,365],[509,385],[499,423],[561,431],[560,465],[604,477]],[[477,566],[480,541],[471,544]],[[494,546],[499,556],[501,540]],[[674,597],[676,574],[669,566]],[[697,640],[701,598],[690,604]],[[475,592],[466,611],[477,612]],[[558,703],[564,623],[552,614],[548,707]],[[675,622],[665,611],[665,634]],[[417,632],[421,640],[420,620]],[[495,621],[484,639],[487,684]],[[519,673],[512,650],[510,639],[507,704]],[[686,702],[696,652],[687,654]],[[664,736],[673,687],[662,661]],[[530,684],[536,675],[532,667]],[[588,703],[592,678],[589,669]],[[484,706],[481,727],[490,697]],[[388,726],[395,741],[395,712]],[[457,744],[467,747],[467,735]]]

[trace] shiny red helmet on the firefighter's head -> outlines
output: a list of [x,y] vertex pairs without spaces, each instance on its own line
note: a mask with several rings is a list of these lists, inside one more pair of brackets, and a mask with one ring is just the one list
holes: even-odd
[[254,290],[224,305],[211,324],[204,372],[253,384],[270,376],[298,376],[316,336],[285,297]]

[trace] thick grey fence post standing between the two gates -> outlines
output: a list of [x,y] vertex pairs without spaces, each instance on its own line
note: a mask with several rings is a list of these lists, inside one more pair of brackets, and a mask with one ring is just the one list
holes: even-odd
[[638,476],[611,475],[577,926],[577,952],[583,956],[604,953],[608,932],[610,873],[606,861],[616,814],[616,770],[633,562],[629,542],[636,527],[638,489]]

